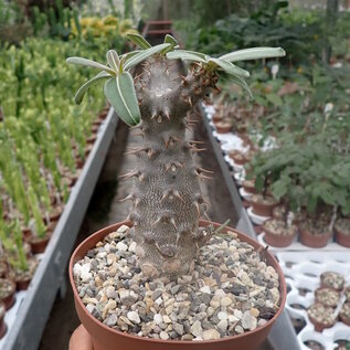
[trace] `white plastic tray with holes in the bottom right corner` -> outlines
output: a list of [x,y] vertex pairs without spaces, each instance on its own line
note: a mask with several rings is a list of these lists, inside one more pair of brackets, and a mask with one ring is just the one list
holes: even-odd
[[[306,309],[314,304],[314,291],[320,286],[319,276],[325,272],[342,274],[350,285],[350,254],[348,252],[278,252],[276,256],[285,274],[289,293],[287,295],[286,309],[293,319],[303,319],[305,327],[299,331],[297,339],[303,350],[310,348],[307,341],[317,341],[325,349],[333,349],[337,340],[350,341],[350,327],[338,321],[333,327],[322,332],[315,331],[309,321]],[[301,294],[300,294],[301,293]],[[300,309],[303,306],[305,309]]]

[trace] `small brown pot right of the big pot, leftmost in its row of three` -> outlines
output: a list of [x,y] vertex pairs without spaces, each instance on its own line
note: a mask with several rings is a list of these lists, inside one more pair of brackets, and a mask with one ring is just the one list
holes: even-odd
[[282,220],[266,220],[263,224],[265,242],[272,246],[285,247],[291,244],[297,234],[296,225],[286,225]]

